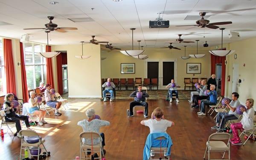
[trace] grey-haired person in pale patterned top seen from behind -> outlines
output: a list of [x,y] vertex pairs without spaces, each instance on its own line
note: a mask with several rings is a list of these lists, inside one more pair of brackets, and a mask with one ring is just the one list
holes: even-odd
[[[110,122],[96,119],[95,118],[95,110],[93,108],[87,109],[85,112],[88,119],[81,120],[77,123],[77,125],[80,125],[84,132],[96,132],[100,134],[102,137],[102,147],[105,146],[105,135],[104,133],[99,133],[99,128],[102,126],[107,126],[110,124]],[[87,145],[91,145],[91,140],[83,140],[83,143]],[[100,139],[93,140],[93,145],[99,144]],[[106,153],[105,149],[103,149],[104,154]]]

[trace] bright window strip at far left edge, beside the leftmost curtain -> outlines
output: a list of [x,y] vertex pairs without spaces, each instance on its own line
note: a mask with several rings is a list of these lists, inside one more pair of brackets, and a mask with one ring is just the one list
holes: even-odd
[[6,94],[6,79],[4,73],[4,61],[3,61],[3,41],[0,38],[0,96]]

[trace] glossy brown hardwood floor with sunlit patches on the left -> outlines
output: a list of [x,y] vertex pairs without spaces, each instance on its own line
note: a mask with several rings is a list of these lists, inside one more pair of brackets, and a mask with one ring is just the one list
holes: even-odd
[[[140,125],[143,114],[126,116],[130,100],[100,102],[99,99],[70,99],[69,110],[62,111],[62,116],[47,116],[48,124],[32,127],[46,139],[46,147],[51,151],[48,160],[73,160],[79,156],[79,134],[82,128],[77,122],[86,119],[85,111],[95,108],[102,119],[111,125],[102,127],[105,133],[105,157],[107,160],[142,160],[143,148],[149,128]],[[206,141],[215,131],[213,116],[197,116],[197,109],[190,108],[187,100],[169,103],[164,100],[148,100],[149,114],[156,107],[164,111],[166,119],[175,122],[167,130],[172,137],[172,160],[201,160],[204,156]],[[142,108],[141,108],[142,109]],[[20,151],[20,139],[6,133],[0,140],[0,159],[15,160]],[[244,139],[242,139],[244,142]],[[221,159],[221,154],[213,153],[212,158]],[[226,154],[227,158],[227,154]],[[231,160],[255,160],[256,143],[249,140],[244,146],[231,145]]]

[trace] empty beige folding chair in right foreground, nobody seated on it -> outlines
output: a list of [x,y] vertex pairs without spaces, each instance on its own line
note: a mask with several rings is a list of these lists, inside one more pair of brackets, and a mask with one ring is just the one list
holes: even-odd
[[[214,140],[214,141],[211,141]],[[223,140],[228,140],[225,143]],[[224,155],[226,151],[228,151],[228,160],[230,160],[230,134],[228,133],[214,133],[209,136],[208,141],[206,142],[206,149],[204,152],[204,157],[206,152],[208,151],[208,160],[210,160],[210,152],[224,152],[222,159],[224,159]],[[227,159],[226,159],[227,160]]]

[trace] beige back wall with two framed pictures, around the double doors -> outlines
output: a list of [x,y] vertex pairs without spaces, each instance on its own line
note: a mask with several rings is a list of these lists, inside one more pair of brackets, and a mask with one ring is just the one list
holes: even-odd
[[[188,60],[183,60],[180,56],[184,56],[184,49],[159,49],[159,48],[146,48],[145,53],[149,56],[148,59],[176,59],[177,61],[177,84],[181,85],[181,89],[184,87],[184,78],[193,78],[193,77],[206,77],[210,76],[210,53],[208,52],[209,48],[200,48],[198,49],[198,54],[206,54],[204,58],[189,58]],[[196,54],[196,48],[186,48],[186,55]],[[119,50],[112,50],[107,52],[102,51],[101,57],[106,57],[105,60],[102,60],[102,78],[147,78],[146,77],[146,60],[139,60],[132,58],[126,55],[123,55]],[[135,63],[135,74],[121,74],[120,73],[120,64],[121,63]],[[186,63],[201,63],[201,74],[187,74],[186,73]]]

